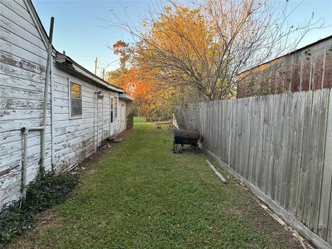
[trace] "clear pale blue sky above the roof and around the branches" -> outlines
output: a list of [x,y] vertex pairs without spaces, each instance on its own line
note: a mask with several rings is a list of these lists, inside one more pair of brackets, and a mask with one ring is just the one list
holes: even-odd
[[[273,1],[275,4],[282,4],[284,0]],[[50,17],[55,17],[53,31],[53,46],[75,62],[84,66],[91,72],[94,72],[95,57],[98,57],[98,75],[105,68],[105,71],[111,71],[119,66],[118,56],[113,55],[113,51],[108,48],[119,39],[125,42],[132,42],[131,35],[121,28],[106,28],[100,19],[115,17],[109,15],[114,13],[122,21],[138,22],[140,18],[149,13],[152,5],[165,3],[162,0],[157,1],[80,1],[80,0],[33,0],[33,4],[39,18],[42,20],[45,30],[48,32]],[[302,23],[304,19],[311,17],[314,12],[314,18],[323,17],[326,26],[324,29],[311,30],[310,33],[302,39],[299,47],[306,46],[316,42],[329,35],[332,35],[332,0],[288,0],[288,7],[291,9],[301,3],[291,15],[289,21],[295,24]]]

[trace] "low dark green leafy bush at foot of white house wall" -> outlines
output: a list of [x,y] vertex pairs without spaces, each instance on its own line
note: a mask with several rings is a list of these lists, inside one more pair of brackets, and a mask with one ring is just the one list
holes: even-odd
[[[78,176],[49,172],[38,176],[26,190],[26,199],[14,201],[0,212],[0,243],[9,243],[33,221],[34,214],[66,201],[78,183]],[[21,207],[20,207],[21,205]]]

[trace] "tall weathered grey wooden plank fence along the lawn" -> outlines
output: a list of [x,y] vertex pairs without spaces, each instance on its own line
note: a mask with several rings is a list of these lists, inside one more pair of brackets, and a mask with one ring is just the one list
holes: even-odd
[[331,247],[332,90],[201,102],[175,116],[304,237]]

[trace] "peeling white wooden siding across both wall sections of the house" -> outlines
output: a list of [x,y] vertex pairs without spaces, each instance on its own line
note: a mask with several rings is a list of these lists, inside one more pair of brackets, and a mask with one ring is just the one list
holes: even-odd
[[[43,39],[24,1],[0,1],[0,210],[3,204],[19,199],[21,194],[21,128],[42,123],[46,57]],[[55,64],[51,75],[45,166],[46,170],[53,167],[60,171],[80,163],[109,138],[110,96],[118,100],[118,92],[84,82]],[[82,84],[80,118],[70,116],[68,79]],[[95,91],[99,90],[104,98],[97,99]],[[118,103],[113,135],[120,131],[120,110]],[[40,147],[40,131],[29,132],[28,183],[37,176]]]

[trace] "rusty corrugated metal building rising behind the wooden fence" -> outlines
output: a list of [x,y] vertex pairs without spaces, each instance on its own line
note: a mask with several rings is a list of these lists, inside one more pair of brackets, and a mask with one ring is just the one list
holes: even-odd
[[332,88],[332,35],[239,74],[238,97]]

